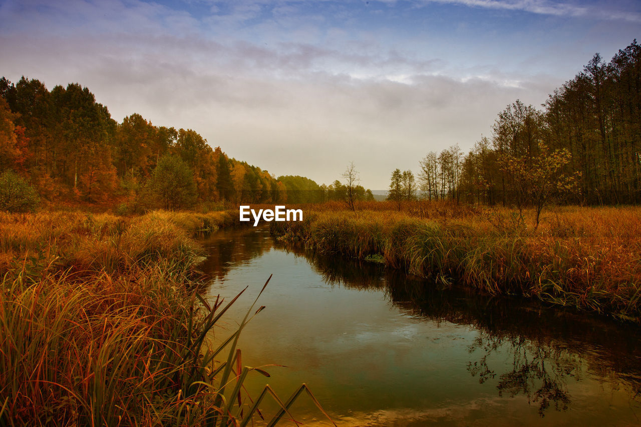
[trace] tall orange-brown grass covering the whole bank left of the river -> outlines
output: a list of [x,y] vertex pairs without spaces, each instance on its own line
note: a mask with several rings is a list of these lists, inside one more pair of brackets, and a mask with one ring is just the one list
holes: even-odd
[[[217,347],[229,303],[199,296],[194,233],[235,212],[0,213],[0,424],[243,426],[251,401],[238,336]],[[267,285],[267,283],[265,283]],[[264,287],[263,287],[264,289]],[[259,294],[260,295],[260,294]],[[315,399],[313,399],[315,401]]]

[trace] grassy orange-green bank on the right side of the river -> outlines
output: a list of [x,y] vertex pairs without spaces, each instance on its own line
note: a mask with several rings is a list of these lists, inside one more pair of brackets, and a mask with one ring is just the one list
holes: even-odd
[[384,205],[356,212],[320,205],[304,221],[273,222],[271,230],[324,255],[640,322],[641,208],[558,208],[533,228],[533,212],[522,222],[501,209]]

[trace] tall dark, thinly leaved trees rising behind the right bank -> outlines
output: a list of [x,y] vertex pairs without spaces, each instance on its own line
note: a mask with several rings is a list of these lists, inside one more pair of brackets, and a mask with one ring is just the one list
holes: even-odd
[[492,136],[464,155],[432,151],[412,171],[392,173],[388,199],[422,197],[487,205],[641,203],[641,46],[635,39],[583,71],[537,109],[517,100]]

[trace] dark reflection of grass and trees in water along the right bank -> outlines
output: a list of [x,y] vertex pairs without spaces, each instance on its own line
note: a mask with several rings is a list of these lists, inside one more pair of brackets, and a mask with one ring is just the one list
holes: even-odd
[[641,366],[634,356],[641,354],[638,328],[531,301],[443,289],[379,265],[289,250],[306,256],[329,285],[383,288],[392,304],[416,317],[472,326],[478,337],[469,347],[469,373],[479,383],[493,384],[499,396],[524,396],[542,417],[550,408],[569,408],[568,383],[584,373],[626,381],[630,399],[641,403]]

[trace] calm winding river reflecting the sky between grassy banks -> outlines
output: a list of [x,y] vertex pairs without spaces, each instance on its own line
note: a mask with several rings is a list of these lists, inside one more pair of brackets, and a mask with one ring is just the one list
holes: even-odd
[[[307,383],[346,426],[641,424],[637,327],[439,290],[380,265],[295,249],[265,228],[220,231],[203,243],[212,298],[249,286],[229,331],[273,274],[258,302],[266,308],[239,345],[243,365],[268,365],[271,374],[251,376],[250,396],[269,383],[285,400]],[[262,407],[277,408],[271,400]],[[331,425],[306,394],[291,414]]]

